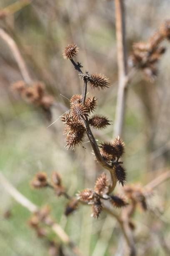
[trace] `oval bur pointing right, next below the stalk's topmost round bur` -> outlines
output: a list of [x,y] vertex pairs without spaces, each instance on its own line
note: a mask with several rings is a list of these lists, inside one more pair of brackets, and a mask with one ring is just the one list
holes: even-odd
[[105,77],[105,75],[103,74],[92,74],[88,81],[92,89],[96,90],[104,90],[105,88],[108,88],[110,85],[109,79]]

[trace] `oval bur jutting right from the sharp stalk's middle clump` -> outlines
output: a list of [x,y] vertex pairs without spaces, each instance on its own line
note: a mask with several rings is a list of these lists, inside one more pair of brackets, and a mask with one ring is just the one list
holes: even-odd
[[93,115],[92,118],[89,119],[89,124],[94,129],[105,129],[107,125],[111,125],[109,122],[108,118],[104,115]]

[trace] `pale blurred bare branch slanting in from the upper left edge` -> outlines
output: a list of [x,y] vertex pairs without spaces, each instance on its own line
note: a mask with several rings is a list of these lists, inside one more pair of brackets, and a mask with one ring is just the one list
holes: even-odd
[[23,60],[23,57],[21,56],[15,41],[2,28],[0,28],[0,37],[7,43],[11,52],[13,53],[13,56],[18,64],[18,67],[20,69],[20,72],[23,76],[24,81],[27,84],[30,84],[32,82],[32,79],[28,73],[27,67],[25,65],[25,61]]

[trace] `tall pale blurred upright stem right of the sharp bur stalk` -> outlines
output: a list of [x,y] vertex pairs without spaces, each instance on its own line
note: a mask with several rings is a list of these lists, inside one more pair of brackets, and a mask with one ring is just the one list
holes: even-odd
[[119,85],[117,92],[117,106],[115,116],[115,136],[122,136],[125,103],[128,89],[127,54],[125,44],[125,5],[124,0],[115,0],[117,63]]

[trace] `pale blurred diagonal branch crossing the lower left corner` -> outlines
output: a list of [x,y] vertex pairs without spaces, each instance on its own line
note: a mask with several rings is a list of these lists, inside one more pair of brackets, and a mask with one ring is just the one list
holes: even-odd
[[[28,198],[23,196],[15,187],[13,187],[13,185],[10,184],[10,182],[3,176],[2,173],[0,173],[0,183],[5,188],[5,190],[18,203],[20,203],[20,205],[23,205],[32,213],[39,211],[37,205],[33,204],[30,200],[28,200]],[[72,249],[75,255],[82,256],[82,253],[79,251],[77,246],[75,246],[74,243],[70,240],[70,237],[65,233],[65,231],[61,228],[60,225],[58,225],[57,223],[52,223],[52,225],[50,226],[52,230],[55,232],[55,234],[60,238],[60,240]]]

